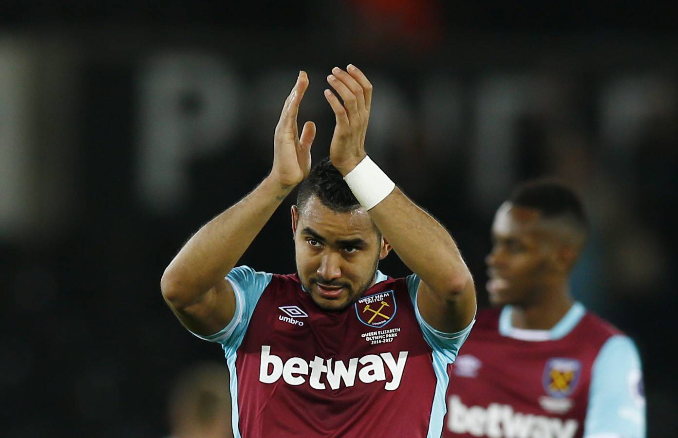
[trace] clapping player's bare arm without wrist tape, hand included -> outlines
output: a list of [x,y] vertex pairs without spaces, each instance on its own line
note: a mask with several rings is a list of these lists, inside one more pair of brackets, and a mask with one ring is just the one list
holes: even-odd
[[307,87],[306,73],[300,72],[275,128],[273,168],[268,177],[193,235],[163,273],[160,286],[167,305],[196,334],[214,334],[231,321],[235,295],[224,277],[311,169],[315,125],[306,122],[299,137],[296,122]]

